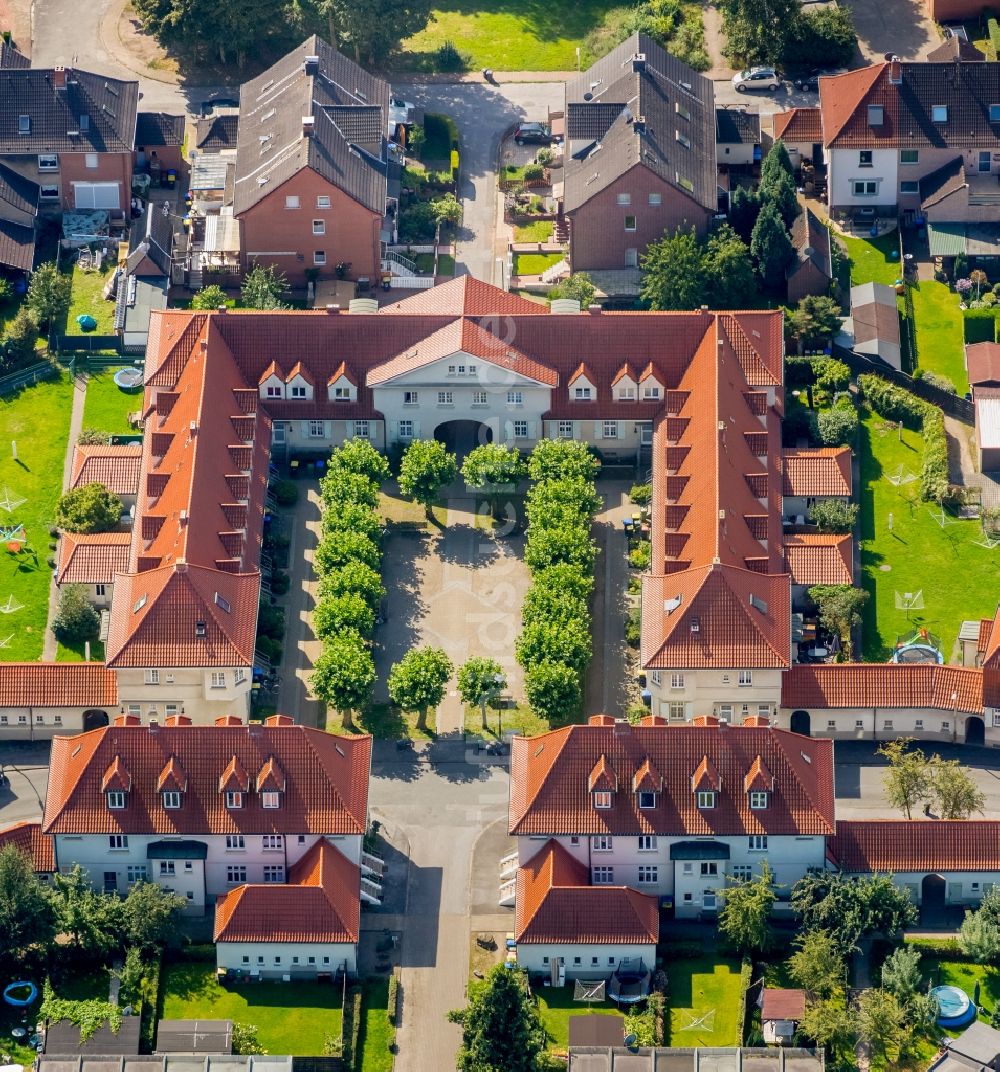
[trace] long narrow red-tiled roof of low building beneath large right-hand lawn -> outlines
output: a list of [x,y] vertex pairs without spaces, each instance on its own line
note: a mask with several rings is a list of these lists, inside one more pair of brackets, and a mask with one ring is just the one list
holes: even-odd
[[983,672],[930,664],[795,665],[781,678],[781,706],[937,708],[982,714]]

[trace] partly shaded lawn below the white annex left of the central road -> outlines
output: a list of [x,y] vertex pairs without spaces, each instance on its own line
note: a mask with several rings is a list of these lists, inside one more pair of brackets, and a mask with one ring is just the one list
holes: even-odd
[[212,959],[164,966],[163,1016],[256,1024],[267,1053],[316,1056],[328,1036],[340,1038],[343,1012],[340,986],[265,982],[223,987]]

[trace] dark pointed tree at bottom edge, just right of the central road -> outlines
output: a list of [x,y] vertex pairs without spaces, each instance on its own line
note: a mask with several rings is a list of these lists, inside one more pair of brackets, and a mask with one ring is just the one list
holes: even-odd
[[468,1004],[448,1019],[462,1027],[460,1072],[536,1072],[546,1032],[523,971],[502,964],[491,968],[468,987]]

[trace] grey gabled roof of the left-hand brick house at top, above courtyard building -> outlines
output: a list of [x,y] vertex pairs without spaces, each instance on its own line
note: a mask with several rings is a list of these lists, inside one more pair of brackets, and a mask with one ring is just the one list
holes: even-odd
[[[317,57],[315,74],[307,57]],[[387,185],[389,84],[312,36],[240,90],[236,152],[239,215],[310,167],[382,214]],[[313,133],[303,134],[311,116]]]

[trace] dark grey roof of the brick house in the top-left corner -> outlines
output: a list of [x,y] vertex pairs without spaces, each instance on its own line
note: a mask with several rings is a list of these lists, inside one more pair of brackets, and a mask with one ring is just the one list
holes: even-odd
[[[132,151],[139,84],[71,69],[65,79],[56,89],[53,71],[0,78],[0,154]],[[30,120],[28,134],[18,134],[20,116]]]

